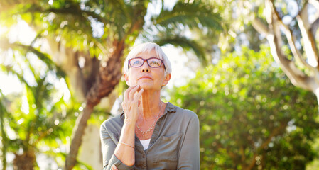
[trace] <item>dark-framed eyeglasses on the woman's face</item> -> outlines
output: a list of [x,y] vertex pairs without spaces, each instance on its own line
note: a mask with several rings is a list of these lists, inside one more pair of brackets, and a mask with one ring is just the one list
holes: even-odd
[[156,57],[151,57],[149,59],[143,59],[142,57],[132,58],[129,60],[129,67],[141,67],[145,61],[147,62],[149,67],[158,68],[161,67],[161,65],[163,64],[165,68],[164,60]]

